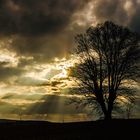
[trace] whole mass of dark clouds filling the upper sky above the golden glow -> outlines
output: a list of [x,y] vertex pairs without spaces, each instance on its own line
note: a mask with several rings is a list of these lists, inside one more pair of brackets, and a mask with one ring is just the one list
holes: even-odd
[[[84,20],[84,25],[78,21],[72,23],[78,17],[82,19],[81,15],[88,16],[86,11],[91,10],[88,8],[91,5],[94,7],[91,14],[98,23],[112,20],[140,32],[138,0],[0,0],[0,34],[11,35],[12,43],[5,47],[21,57],[18,68],[1,64],[1,79],[20,74],[21,68],[27,65],[67,57],[74,46],[75,34],[90,26]],[[83,8],[85,13],[82,13]],[[76,13],[78,15],[73,18]],[[52,71],[50,77],[53,75]]]

